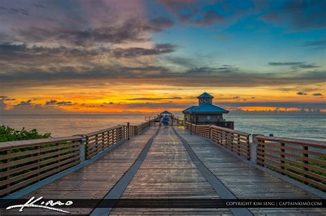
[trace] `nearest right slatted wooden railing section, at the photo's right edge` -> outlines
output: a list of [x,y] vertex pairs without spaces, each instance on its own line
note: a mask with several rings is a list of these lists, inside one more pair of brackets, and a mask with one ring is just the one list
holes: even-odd
[[257,164],[326,191],[326,142],[255,136]]

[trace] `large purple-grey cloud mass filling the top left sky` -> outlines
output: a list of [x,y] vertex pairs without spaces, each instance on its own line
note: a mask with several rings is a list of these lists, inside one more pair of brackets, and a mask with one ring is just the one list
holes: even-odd
[[[28,14],[22,8],[14,7],[17,2],[6,1],[0,8],[0,41],[17,41],[32,44],[50,44],[80,47],[96,47],[150,41],[151,33],[162,32],[172,27],[168,17],[156,17],[146,21],[140,1],[128,4],[115,0],[108,1],[47,1],[42,4],[21,2],[22,8],[29,8],[32,15],[21,20],[8,13]],[[51,8],[51,10],[44,10]],[[69,10],[74,8],[74,10]]]

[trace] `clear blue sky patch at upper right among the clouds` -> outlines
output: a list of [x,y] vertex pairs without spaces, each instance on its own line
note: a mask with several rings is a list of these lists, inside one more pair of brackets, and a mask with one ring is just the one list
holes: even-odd
[[[324,46],[324,49],[317,46],[303,46],[309,41],[325,41],[325,19],[323,21],[324,25],[318,25],[317,27],[297,27],[290,24],[292,21],[285,20],[269,22],[265,21],[263,16],[273,10],[277,11],[282,6],[285,7],[286,1],[272,1],[270,3],[261,1],[261,3],[264,5],[259,10],[255,9],[255,4],[252,1],[226,1],[230,12],[224,12],[221,9],[224,8],[223,3],[215,3],[209,7],[205,3],[199,4],[201,7],[196,9],[202,9],[202,11],[214,10],[224,16],[223,20],[207,26],[187,25],[177,19],[173,12],[162,8],[160,3],[149,1],[147,7],[150,16],[155,16],[154,14],[158,12],[175,22],[174,27],[153,36],[155,41],[180,45],[180,49],[172,53],[171,56],[196,58],[198,53],[206,53],[215,57],[216,61],[211,62],[208,60],[206,64],[218,64],[219,62],[237,64],[246,67],[246,69],[261,72],[272,70],[265,67],[270,61],[315,62],[325,67],[325,43],[320,45]],[[314,4],[314,2],[311,4]],[[323,10],[318,8],[317,5],[318,3],[316,3],[316,6],[307,7],[307,9],[302,6],[302,14],[313,16],[313,14],[310,14],[312,11]],[[237,15],[236,10],[243,10],[239,12],[243,16]],[[296,9],[293,8],[292,10]],[[286,10],[284,12],[280,11],[280,13],[283,13],[280,15],[282,17],[290,16],[288,17],[289,20],[295,19],[295,17],[292,17],[295,14],[291,16],[290,12],[286,12]],[[239,17],[235,19],[235,16]],[[201,18],[200,15],[194,17]],[[316,17],[316,19],[323,19],[323,17],[325,18],[325,13],[322,17]],[[312,23],[314,22],[312,21]]]

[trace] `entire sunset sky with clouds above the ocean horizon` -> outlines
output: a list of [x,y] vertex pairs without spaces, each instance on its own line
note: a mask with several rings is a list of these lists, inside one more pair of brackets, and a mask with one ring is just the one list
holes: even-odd
[[326,1],[0,2],[0,113],[326,112]]

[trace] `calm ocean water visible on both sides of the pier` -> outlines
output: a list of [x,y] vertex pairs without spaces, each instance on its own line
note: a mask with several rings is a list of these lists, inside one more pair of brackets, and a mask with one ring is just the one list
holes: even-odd
[[[235,121],[235,130],[250,134],[326,141],[326,115],[252,115],[228,114],[227,121]],[[144,115],[1,115],[0,125],[20,130],[36,128],[52,136],[85,134],[118,124],[144,122]]]

